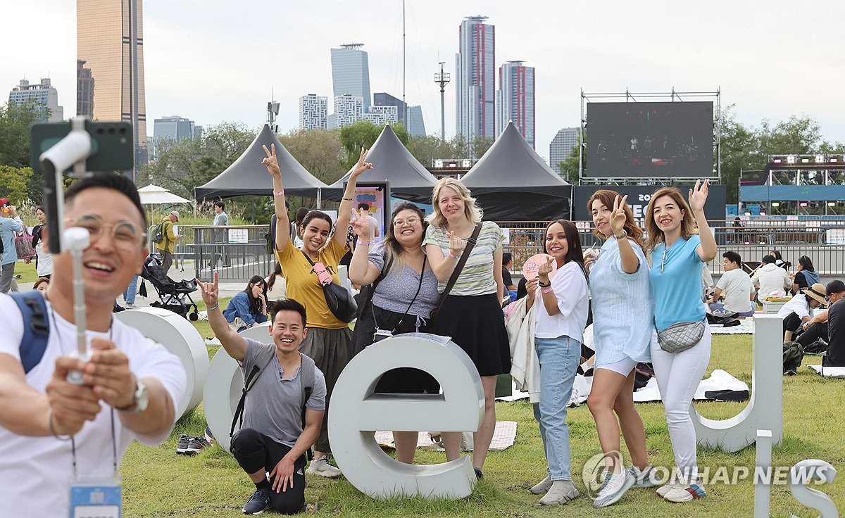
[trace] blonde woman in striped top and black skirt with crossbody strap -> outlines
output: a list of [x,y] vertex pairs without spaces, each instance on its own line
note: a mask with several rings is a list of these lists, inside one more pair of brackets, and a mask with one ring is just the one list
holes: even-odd
[[[510,373],[510,345],[502,316],[502,243],[504,233],[493,221],[482,223],[482,210],[470,190],[455,178],[444,177],[434,185],[433,214],[423,245],[444,292],[455,265],[461,259],[467,240],[481,224],[475,245],[455,286],[439,308],[435,330],[451,336],[452,341],[472,358],[484,386],[484,420],[474,435],[472,466],[482,478],[493,431],[496,428],[496,377]],[[461,455],[461,433],[443,433],[446,459]]]

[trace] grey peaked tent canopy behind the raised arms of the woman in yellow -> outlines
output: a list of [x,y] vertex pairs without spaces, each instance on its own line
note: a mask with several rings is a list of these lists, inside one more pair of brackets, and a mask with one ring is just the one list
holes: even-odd
[[198,201],[210,198],[231,198],[232,196],[243,196],[253,194],[257,196],[272,196],[273,182],[267,168],[261,164],[264,157],[262,146],[275,144],[275,155],[281,169],[281,181],[285,186],[285,193],[292,196],[305,196],[317,198],[317,189],[326,185],[308,172],[297,159],[293,158],[285,146],[281,145],[279,139],[270,130],[270,126],[264,124],[258,136],[243,155],[221,172],[209,183],[194,189],[194,196]]

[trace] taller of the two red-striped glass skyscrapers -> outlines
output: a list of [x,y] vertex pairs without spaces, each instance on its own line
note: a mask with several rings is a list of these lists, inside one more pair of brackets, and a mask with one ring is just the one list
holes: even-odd
[[455,54],[455,133],[468,141],[495,137],[496,35],[486,16],[461,22]]

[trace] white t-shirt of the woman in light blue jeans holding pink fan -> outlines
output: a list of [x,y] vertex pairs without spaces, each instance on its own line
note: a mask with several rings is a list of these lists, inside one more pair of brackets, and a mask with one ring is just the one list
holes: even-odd
[[537,295],[534,298],[534,304],[537,305],[534,311],[537,315],[534,336],[557,338],[565,335],[579,342],[583,341],[589,297],[586,277],[581,266],[575,261],[570,261],[561,266],[552,278],[552,291],[558,299],[559,314],[549,316],[545,304],[542,303],[541,289],[537,286]]

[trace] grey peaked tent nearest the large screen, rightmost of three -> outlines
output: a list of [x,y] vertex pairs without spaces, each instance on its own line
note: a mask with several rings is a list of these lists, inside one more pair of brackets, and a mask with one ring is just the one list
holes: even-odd
[[565,182],[509,122],[487,153],[461,178],[494,221],[569,218],[572,185]]

